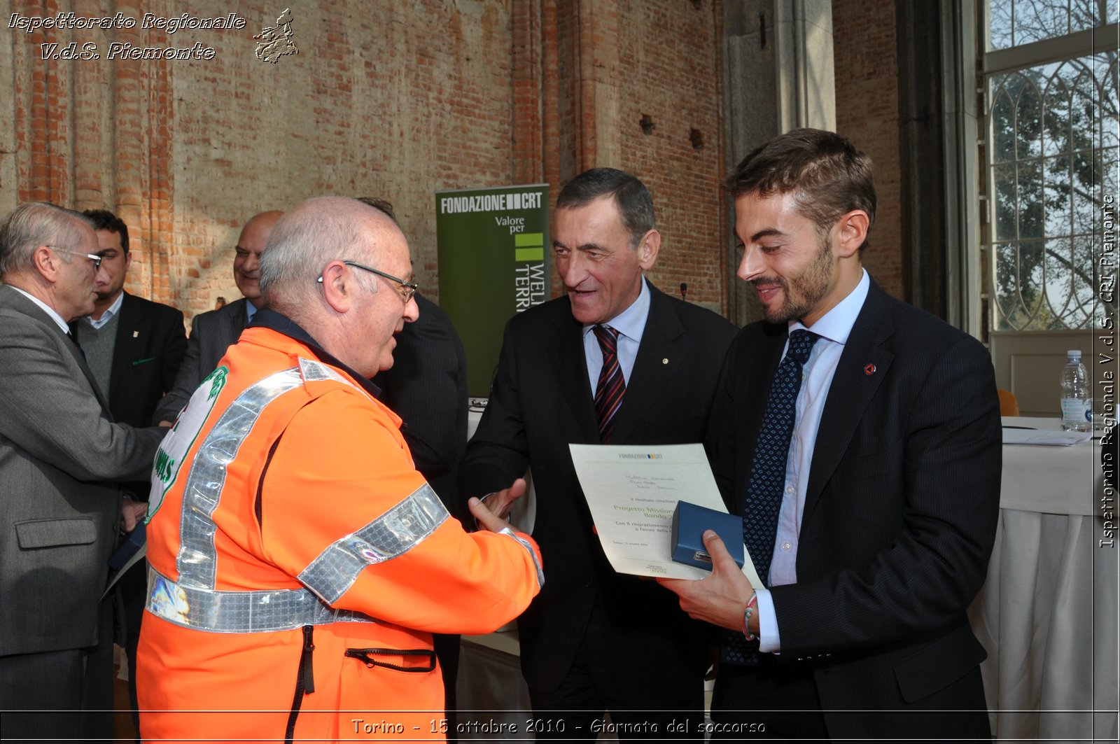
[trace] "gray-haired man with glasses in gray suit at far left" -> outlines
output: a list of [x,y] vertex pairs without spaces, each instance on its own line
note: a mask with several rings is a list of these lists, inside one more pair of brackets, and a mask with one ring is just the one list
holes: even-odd
[[[111,676],[83,677],[109,632],[100,598],[123,505],[113,481],[143,477],[158,428],[114,424],[67,324],[88,315],[104,280],[83,215],[20,206],[0,226],[0,708],[78,710]],[[100,273],[100,277],[99,277]],[[109,670],[111,672],[111,668]],[[104,723],[103,720],[101,723]],[[74,718],[6,713],[3,735],[112,736]]]

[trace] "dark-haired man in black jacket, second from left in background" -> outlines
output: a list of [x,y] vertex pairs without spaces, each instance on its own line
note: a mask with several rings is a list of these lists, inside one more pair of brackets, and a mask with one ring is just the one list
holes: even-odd
[[[124,279],[132,266],[128,225],[108,210],[86,210],[83,214],[93,222],[101,271],[93,313],[71,324],[71,329],[109,401],[113,418],[120,424],[146,427],[156,403],[171,389],[187,351],[183,313],[124,291]],[[122,486],[138,501],[148,500],[150,484],[147,478]],[[148,587],[144,561],[133,565],[116,585],[125,632],[122,640],[129,663],[129,697],[133,720],[139,726],[136,658]],[[102,639],[102,643],[101,662],[111,666],[112,644],[108,639]],[[106,703],[112,707],[112,690],[109,690]]]

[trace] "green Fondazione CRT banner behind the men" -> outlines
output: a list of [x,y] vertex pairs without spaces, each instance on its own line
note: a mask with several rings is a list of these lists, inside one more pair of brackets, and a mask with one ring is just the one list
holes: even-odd
[[467,351],[467,388],[489,396],[502,332],[549,298],[549,186],[436,192],[439,305]]

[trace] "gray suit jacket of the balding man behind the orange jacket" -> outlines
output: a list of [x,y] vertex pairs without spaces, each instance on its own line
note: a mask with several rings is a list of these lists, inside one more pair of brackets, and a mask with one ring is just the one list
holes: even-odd
[[230,344],[237,343],[241,332],[249,325],[245,309],[248,304],[249,300],[242,297],[223,308],[194,317],[190,322],[190,338],[187,340],[187,355],[183,357],[175,387],[156,407],[152,424],[174,421],[203,380],[217,369],[218,361],[225,356],[225,350]]

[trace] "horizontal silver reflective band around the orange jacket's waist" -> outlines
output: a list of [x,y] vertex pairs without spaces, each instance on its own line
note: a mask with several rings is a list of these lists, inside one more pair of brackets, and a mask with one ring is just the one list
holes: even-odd
[[323,604],[307,589],[215,592],[184,586],[148,567],[148,612],[209,633],[270,633],[304,625],[375,623],[373,617]]

